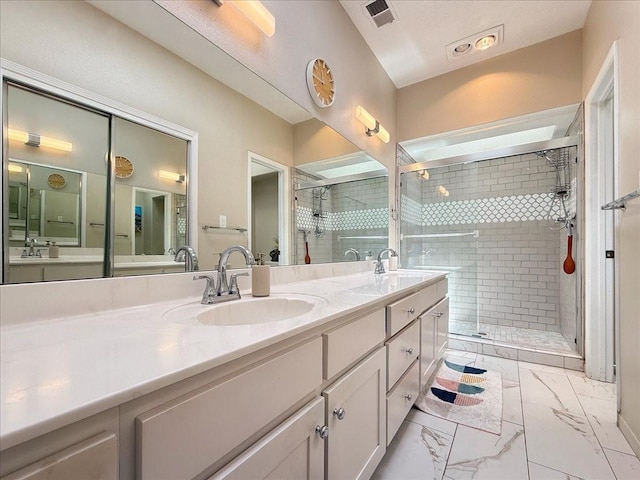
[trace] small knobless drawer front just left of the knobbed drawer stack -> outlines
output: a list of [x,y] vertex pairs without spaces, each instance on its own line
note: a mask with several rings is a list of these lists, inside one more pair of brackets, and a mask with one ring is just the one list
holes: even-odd
[[384,342],[384,310],[340,326],[322,337],[325,348],[324,378],[329,379]]

